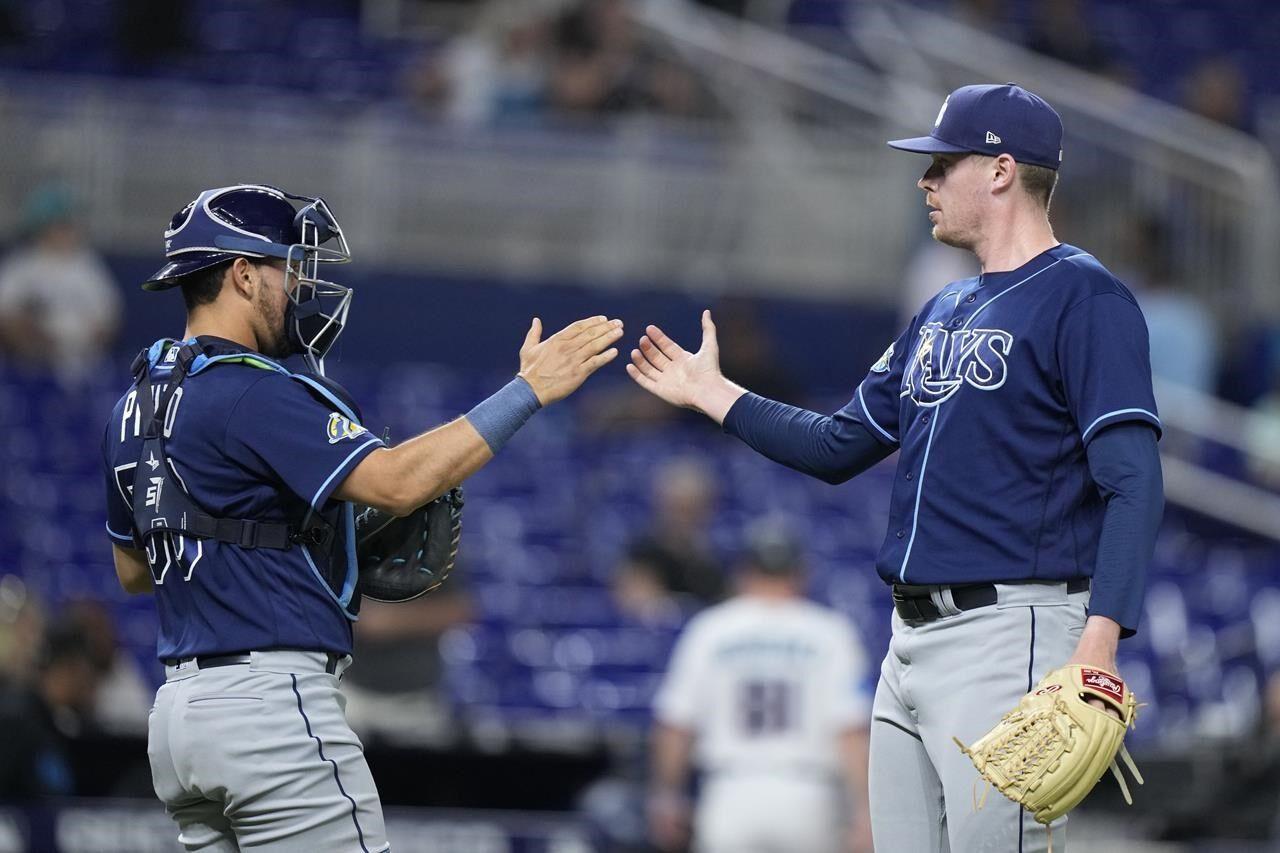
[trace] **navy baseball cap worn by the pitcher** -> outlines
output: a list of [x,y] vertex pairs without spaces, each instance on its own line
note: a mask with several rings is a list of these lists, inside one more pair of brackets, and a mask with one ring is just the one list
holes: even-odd
[[928,136],[891,140],[919,154],[1007,154],[1019,163],[1057,169],[1062,119],[1048,102],[1016,83],[961,86],[947,95]]

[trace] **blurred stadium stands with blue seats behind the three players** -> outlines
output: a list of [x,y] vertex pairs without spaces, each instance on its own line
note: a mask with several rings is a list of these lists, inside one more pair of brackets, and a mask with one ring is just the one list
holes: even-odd
[[[728,375],[831,411],[969,274],[883,141],[1006,79],[1064,114],[1055,228],[1137,291],[1167,425],[1121,644],[1147,785],[1126,809],[1103,781],[1071,849],[1280,849],[1277,47],[1270,0],[0,1],[0,780],[50,726],[69,757],[67,797],[0,807],[0,850],[178,849],[155,616],[116,587],[99,467],[129,357],[180,330],[137,282],[198,190],[329,200],[357,292],[330,373],[393,437],[495,389],[534,314],[694,342],[712,306]],[[806,480],[621,365],[540,414],[467,484],[453,590],[358,629],[396,849],[645,849],[648,704],[745,525],[790,521],[878,661],[890,476]],[[79,671],[56,649],[82,640]]]

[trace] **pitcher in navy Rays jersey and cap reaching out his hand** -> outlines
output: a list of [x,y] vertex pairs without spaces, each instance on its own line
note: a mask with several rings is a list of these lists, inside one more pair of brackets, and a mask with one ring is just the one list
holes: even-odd
[[822,416],[730,382],[709,313],[696,353],[649,327],[627,373],[831,483],[902,451],[877,558],[896,612],[873,710],[876,847],[1041,849],[1018,806],[973,809],[978,776],[951,738],[980,736],[1064,663],[1115,671],[1138,625],[1164,505],[1146,324],[1053,236],[1062,123],[1042,99],[965,86],[929,136],[890,145],[932,155],[918,186],[933,236],[982,274],[925,302],[849,405]]

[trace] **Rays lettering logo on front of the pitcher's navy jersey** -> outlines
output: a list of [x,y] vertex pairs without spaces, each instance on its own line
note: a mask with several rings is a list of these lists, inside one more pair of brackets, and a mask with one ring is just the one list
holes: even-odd
[[1012,348],[1014,336],[1004,329],[950,330],[941,323],[925,323],[906,365],[900,396],[933,407],[950,400],[964,384],[995,391],[1009,375],[1007,356]]

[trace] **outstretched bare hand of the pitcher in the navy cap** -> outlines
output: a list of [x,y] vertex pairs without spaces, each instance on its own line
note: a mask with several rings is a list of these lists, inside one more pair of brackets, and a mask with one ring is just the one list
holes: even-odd
[[645,328],[640,348],[631,351],[627,375],[671,405],[696,409],[718,423],[745,393],[721,373],[710,311],[703,311],[703,346],[698,352],[689,352],[655,325]]

